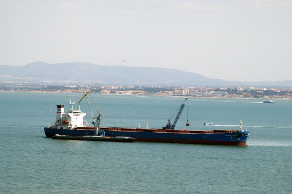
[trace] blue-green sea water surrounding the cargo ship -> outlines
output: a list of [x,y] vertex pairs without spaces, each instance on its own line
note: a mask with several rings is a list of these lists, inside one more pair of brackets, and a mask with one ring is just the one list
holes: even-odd
[[[248,146],[46,138],[56,105],[69,109],[71,99],[77,108],[81,95],[0,91],[0,194],[292,193],[292,100],[188,98],[176,129],[233,130],[242,120]],[[162,128],[184,100],[91,96],[101,125],[114,127]],[[91,123],[86,100],[79,106]]]

